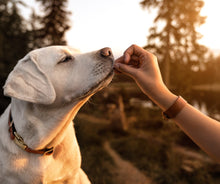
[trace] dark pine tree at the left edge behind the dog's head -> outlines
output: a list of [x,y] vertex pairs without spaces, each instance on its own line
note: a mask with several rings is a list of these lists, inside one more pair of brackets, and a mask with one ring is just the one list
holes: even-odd
[[0,66],[1,77],[6,77],[18,59],[28,51],[28,35],[18,4],[21,1],[0,1]]

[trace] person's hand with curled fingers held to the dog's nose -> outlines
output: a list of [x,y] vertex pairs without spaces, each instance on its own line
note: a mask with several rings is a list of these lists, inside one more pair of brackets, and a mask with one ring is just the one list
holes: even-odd
[[116,71],[132,77],[150,97],[165,86],[156,56],[139,46],[130,46],[124,55],[115,61],[114,67]]

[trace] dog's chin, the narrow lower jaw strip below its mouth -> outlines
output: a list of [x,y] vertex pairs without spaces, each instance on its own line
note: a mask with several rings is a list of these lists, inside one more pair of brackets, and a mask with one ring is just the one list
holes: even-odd
[[77,99],[83,100],[87,97],[94,95],[101,89],[105,88],[112,81],[113,76],[114,76],[114,71],[112,69],[102,80],[100,80],[100,82],[97,82],[96,84],[91,86],[86,92],[80,95]]

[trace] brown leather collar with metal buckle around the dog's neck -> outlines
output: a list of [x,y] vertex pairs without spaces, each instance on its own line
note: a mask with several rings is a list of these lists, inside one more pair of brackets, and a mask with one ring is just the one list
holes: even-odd
[[21,149],[25,150],[26,152],[29,153],[35,153],[35,154],[41,154],[41,155],[51,155],[53,153],[53,147],[51,148],[44,148],[40,150],[34,150],[29,148],[23,138],[17,133],[14,125],[14,121],[11,115],[11,111],[9,113],[9,118],[8,118],[8,125],[9,125],[9,133],[10,133],[10,138],[15,142],[17,146],[19,146]]

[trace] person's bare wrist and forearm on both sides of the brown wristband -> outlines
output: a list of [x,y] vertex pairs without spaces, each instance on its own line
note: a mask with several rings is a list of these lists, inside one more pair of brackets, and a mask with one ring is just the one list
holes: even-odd
[[[163,111],[167,110],[177,98],[166,87],[160,87],[149,95]],[[180,111],[174,121],[198,146],[220,162],[220,123],[218,121],[204,115],[190,104]]]

